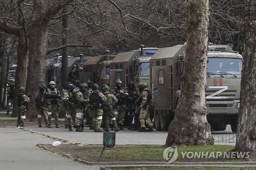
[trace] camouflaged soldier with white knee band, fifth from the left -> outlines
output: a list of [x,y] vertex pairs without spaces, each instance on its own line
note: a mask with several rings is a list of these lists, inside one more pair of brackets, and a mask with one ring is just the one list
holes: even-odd
[[81,89],[79,87],[76,87],[73,90],[72,95],[74,96],[74,108],[76,113],[76,131],[83,131],[83,106],[89,101],[83,98]]

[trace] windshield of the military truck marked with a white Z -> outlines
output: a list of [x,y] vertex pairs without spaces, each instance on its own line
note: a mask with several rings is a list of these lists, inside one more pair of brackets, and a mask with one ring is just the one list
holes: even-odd
[[222,75],[234,74],[241,75],[242,59],[236,58],[208,58],[207,73],[216,74],[220,72]]

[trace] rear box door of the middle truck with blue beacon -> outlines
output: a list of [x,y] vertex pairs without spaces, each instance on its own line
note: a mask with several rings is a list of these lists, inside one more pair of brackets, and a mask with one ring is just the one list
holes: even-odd
[[125,69],[111,69],[110,70],[110,86],[116,86],[116,81],[121,80],[123,88],[127,87],[127,71]]

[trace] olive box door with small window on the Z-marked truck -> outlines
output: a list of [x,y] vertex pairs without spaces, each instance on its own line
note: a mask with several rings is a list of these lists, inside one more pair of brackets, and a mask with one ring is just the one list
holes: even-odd
[[152,67],[152,91],[155,110],[172,109],[172,66]]

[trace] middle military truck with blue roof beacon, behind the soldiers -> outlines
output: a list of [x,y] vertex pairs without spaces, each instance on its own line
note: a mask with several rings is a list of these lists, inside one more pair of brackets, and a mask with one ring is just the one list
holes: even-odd
[[111,62],[111,88],[115,87],[116,81],[121,80],[123,88],[127,88],[129,82],[134,81],[150,84],[150,58],[158,48],[140,45],[140,50],[118,53]]

